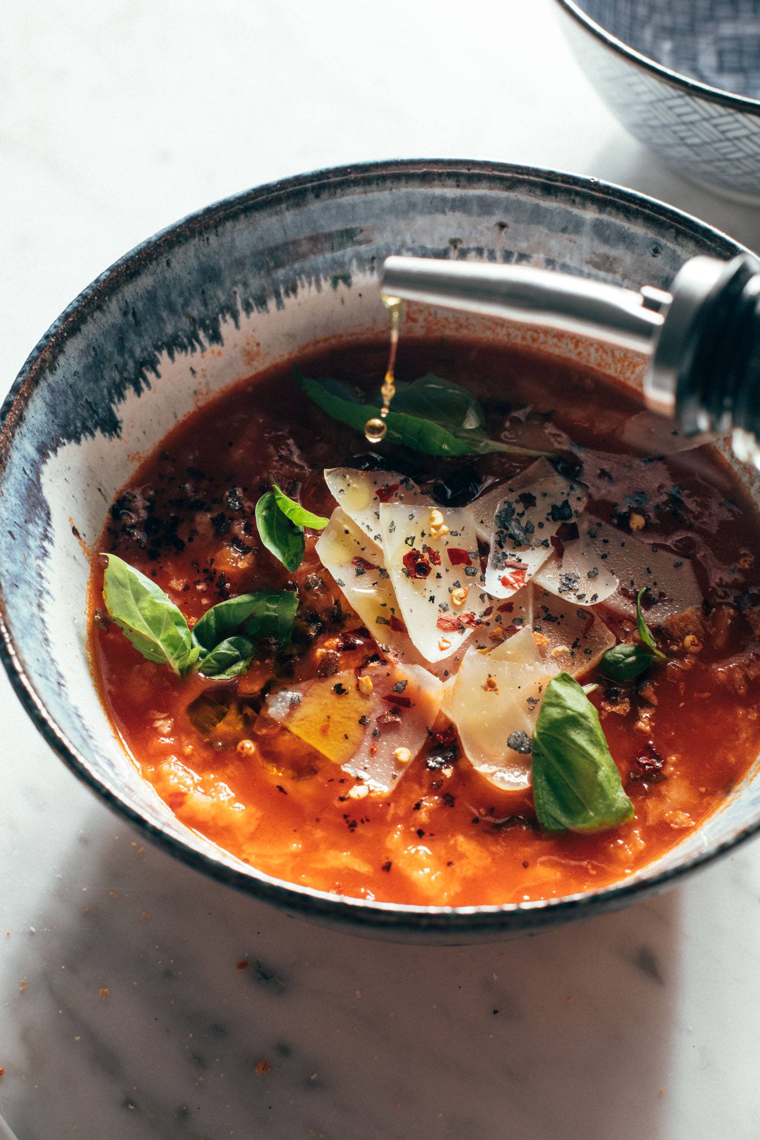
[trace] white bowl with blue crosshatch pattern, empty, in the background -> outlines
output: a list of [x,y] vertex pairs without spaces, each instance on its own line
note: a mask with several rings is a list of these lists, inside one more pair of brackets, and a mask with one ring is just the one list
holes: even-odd
[[760,202],[754,0],[557,0],[581,67],[621,123],[687,178]]

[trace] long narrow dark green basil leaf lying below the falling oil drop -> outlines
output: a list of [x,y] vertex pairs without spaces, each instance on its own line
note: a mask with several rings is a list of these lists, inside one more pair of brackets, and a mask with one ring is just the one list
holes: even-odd
[[[333,383],[322,380],[307,380],[295,369],[295,377],[301,390],[333,420],[354,427],[363,435],[368,420],[379,416],[379,407],[371,404],[359,404],[353,396],[336,394]],[[450,430],[432,420],[404,412],[389,412],[385,417],[389,443],[403,443],[412,451],[423,455],[484,455],[489,451],[508,451],[512,455],[539,456],[548,451],[534,451],[517,447],[514,443],[502,443],[500,440],[488,439],[480,430],[457,427]]]

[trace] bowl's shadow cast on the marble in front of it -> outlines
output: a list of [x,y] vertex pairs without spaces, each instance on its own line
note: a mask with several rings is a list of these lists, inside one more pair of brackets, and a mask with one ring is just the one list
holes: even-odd
[[678,891],[530,939],[397,946],[91,819],[7,1011],[19,1140],[664,1140]]

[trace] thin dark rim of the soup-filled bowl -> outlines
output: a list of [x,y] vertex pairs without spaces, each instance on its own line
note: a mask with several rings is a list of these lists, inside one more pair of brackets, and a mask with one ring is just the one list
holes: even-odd
[[[428,174],[431,180],[434,180],[439,174],[463,179],[466,179],[467,176],[491,176],[504,180],[502,189],[505,192],[514,186],[530,186],[534,182],[545,189],[550,187],[555,192],[565,192],[570,203],[573,202],[573,195],[579,194],[586,201],[596,197],[607,204],[624,206],[629,211],[632,210],[641,219],[646,218],[647,214],[655,214],[661,222],[670,223],[677,230],[683,229],[692,237],[709,239],[712,246],[722,246],[727,258],[747,252],[728,235],[681,210],[677,210],[675,206],[659,202],[656,198],[596,178],[541,166],[484,160],[400,158],[327,168],[243,190],[186,215],[137,245],[82,290],[60,317],[54,321],[30,353],[0,408],[0,489],[5,456],[13,446],[16,430],[23,422],[23,413],[31,391],[41,380],[44,380],[51,359],[65,350],[68,335],[87,321],[89,314],[97,309],[101,299],[105,300],[116,292],[122,280],[139,272],[144,263],[153,263],[165,258],[177,245],[203,233],[214,221],[221,221],[226,217],[240,213],[251,215],[252,212],[255,213],[256,209],[267,209],[278,198],[303,194],[309,188],[343,185],[350,190],[351,186],[360,188],[368,180],[373,182],[383,177],[393,180],[394,177],[416,176],[424,178],[425,174]],[[466,182],[460,188],[466,188]],[[2,548],[0,547],[0,563],[1,561]],[[430,933],[441,938],[456,937],[458,934],[465,939],[479,935],[484,938],[493,938],[500,934],[507,935],[509,931],[536,929],[550,922],[593,915],[622,906],[637,895],[644,897],[662,890],[680,876],[711,863],[760,831],[759,811],[754,820],[736,830],[730,838],[698,852],[648,879],[619,880],[602,887],[599,890],[536,902],[477,906],[420,906],[333,895],[301,883],[273,878],[255,866],[251,866],[248,871],[238,870],[223,857],[196,850],[185,840],[147,820],[122,795],[113,791],[91,769],[87,757],[68,741],[58,727],[55,716],[48,711],[44,701],[27,677],[7,621],[1,576],[0,660],[16,695],[52,750],[113,811],[126,819],[128,822],[136,824],[157,846],[196,870],[204,871],[229,886],[264,902],[273,903],[291,913],[326,920],[330,923],[343,923],[349,928],[363,929],[368,934],[378,934],[385,929],[391,931],[391,936],[395,934],[414,936]]]

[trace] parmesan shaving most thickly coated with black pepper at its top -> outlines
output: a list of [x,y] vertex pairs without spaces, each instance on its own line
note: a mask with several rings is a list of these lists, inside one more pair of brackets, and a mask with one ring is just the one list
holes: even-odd
[[577,526],[586,492],[555,471],[522,488],[509,483],[493,520],[485,589],[510,597],[550,556],[550,539],[563,526]]

